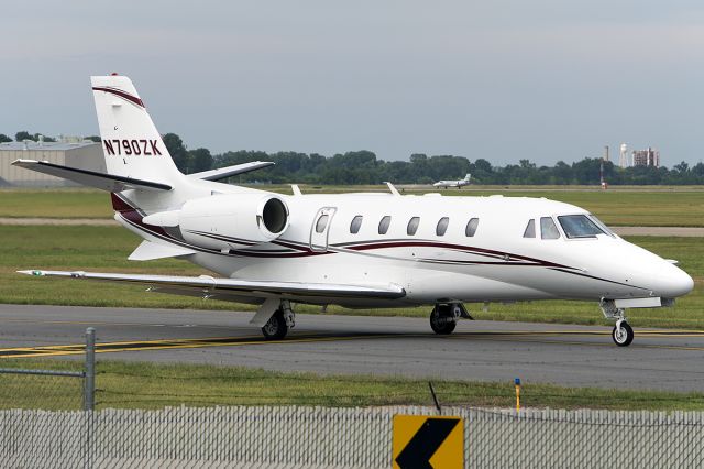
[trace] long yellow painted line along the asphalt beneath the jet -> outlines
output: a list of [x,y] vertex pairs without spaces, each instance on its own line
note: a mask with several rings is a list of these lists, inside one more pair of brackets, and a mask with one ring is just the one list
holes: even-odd
[[[441,338],[455,340],[494,340],[494,341],[516,341],[516,342],[537,342],[537,343],[556,343],[556,345],[579,345],[579,346],[607,346],[613,347],[608,342],[590,342],[576,341],[569,339],[550,339],[548,337],[560,336],[609,336],[607,330],[484,330],[475,332],[458,332]],[[675,331],[675,330],[644,330],[636,336],[650,337],[704,337],[704,331]],[[332,342],[342,340],[365,340],[365,339],[403,339],[403,338],[433,338],[431,334],[351,334],[351,335],[306,335],[293,336],[284,340],[265,340],[262,336],[239,336],[239,337],[207,337],[198,339],[160,339],[160,340],[133,340],[133,341],[114,341],[96,343],[97,353],[124,352],[124,351],[143,351],[143,350],[164,350],[164,349],[188,349],[188,348],[206,348],[206,347],[243,347],[243,346],[262,346],[275,343],[308,343],[308,342]],[[541,337],[543,339],[541,339]],[[440,337],[439,337],[440,338]],[[637,343],[636,348],[657,348],[672,350],[694,350],[703,351],[704,346],[678,346],[678,345],[649,345]],[[56,357],[67,355],[84,353],[85,345],[55,345],[55,346],[37,346],[37,347],[15,347],[0,349],[0,358],[23,358],[23,357]]]

